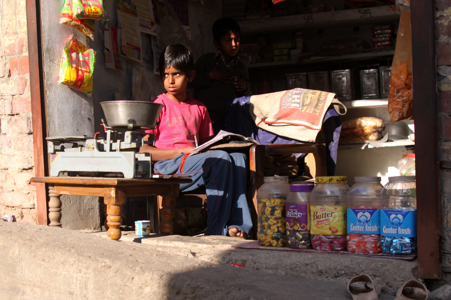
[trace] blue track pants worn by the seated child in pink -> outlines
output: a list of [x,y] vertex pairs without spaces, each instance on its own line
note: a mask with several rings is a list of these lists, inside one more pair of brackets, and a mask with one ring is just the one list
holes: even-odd
[[[154,171],[164,175],[180,174],[183,156],[157,161]],[[252,220],[246,200],[247,165],[245,154],[229,154],[221,150],[186,158],[183,174],[191,175],[193,182],[180,184],[180,191],[188,192],[205,186],[208,212],[205,235],[226,235],[232,226],[249,233]]]

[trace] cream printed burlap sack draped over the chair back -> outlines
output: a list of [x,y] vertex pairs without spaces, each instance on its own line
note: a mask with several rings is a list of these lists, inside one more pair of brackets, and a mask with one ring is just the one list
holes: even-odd
[[[335,94],[329,92],[297,88],[252,96],[249,110],[255,124],[263,130],[290,139],[315,142],[332,103],[338,114],[346,113],[346,107],[334,97]],[[340,112],[340,107],[345,113]]]

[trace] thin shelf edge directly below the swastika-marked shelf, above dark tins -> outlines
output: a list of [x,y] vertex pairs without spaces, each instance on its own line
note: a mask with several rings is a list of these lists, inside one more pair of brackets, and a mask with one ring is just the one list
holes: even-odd
[[379,58],[384,56],[393,56],[395,54],[395,50],[389,51],[377,51],[377,52],[366,52],[366,53],[358,53],[358,54],[347,54],[347,55],[336,55],[336,56],[327,56],[327,57],[312,57],[308,59],[300,59],[300,60],[289,60],[286,62],[270,62],[270,63],[252,63],[247,65],[248,69],[254,68],[265,68],[265,67],[285,67],[285,66],[294,66],[294,65],[306,65],[312,63],[324,63],[338,60],[363,60],[363,59],[372,59]]

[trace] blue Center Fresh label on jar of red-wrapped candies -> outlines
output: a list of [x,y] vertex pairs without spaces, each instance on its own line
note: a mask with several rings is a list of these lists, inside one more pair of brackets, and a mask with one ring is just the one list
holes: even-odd
[[379,234],[380,220],[378,209],[348,208],[348,233]]

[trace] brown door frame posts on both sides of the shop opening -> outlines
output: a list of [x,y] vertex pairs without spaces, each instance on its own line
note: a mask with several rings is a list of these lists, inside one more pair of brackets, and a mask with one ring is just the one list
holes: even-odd
[[[26,0],[36,176],[46,176],[46,118],[39,0]],[[439,130],[433,0],[411,1],[419,278],[442,278]],[[37,185],[38,223],[47,224],[46,191]]]

